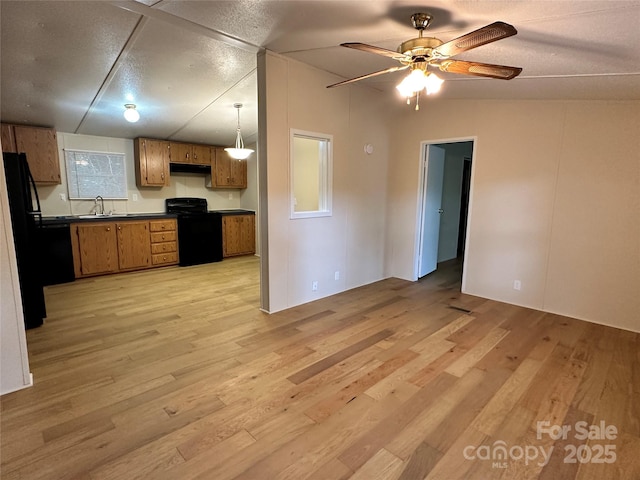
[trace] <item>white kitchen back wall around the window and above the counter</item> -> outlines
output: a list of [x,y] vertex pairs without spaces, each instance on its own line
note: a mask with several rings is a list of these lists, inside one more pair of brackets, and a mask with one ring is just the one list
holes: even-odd
[[[255,207],[257,189],[254,172],[248,168],[248,187],[246,190],[220,189],[213,190],[205,186],[205,176],[192,173],[171,174],[168,187],[137,187],[134,171],[133,140],[125,138],[99,137],[92,135],[77,135],[58,132],[58,153],[60,157],[60,170],[62,183],[55,186],[38,186],[38,194],[42,212],[45,216],[87,214],[94,207],[93,201],[60,199],[60,194],[68,197],[67,176],[64,162],[64,149],[94,150],[101,152],[124,153],[126,161],[127,185],[129,190],[128,200],[105,200],[105,211],[113,210],[120,213],[157,213],[164,212],[165,198],[172,197],[201,197],[206,198],[210,210],[227,208]],[[255,154],[249,157],[249,162],[255,169]],[[248,164],[248,166],[250,165]],[[253,174],[253,175],[252,175]],[[247,193],[252,192],[252,193]],[[138,197],[133,201],[133,195]],[[241,195],[245,197],[241,200]]]

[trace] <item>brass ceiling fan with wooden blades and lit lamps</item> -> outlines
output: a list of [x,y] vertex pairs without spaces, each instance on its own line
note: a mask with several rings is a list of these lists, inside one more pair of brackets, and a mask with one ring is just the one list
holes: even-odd
[[442,40],[435,37],[423,36],[424,30],[429,26],[432,19],[433,17],[428,13],[414,13],[411,16],[411,22],[413,27],[418,30],[419,35],[417,38],[402,42],[397,51],[367,45],[366,43],[342,43],[340,45],[342,47],[393,58],[399,61],[401,65],[334,83],[333,85],[328,85],[327,88],[346,85],[385,73],[410,69],[409,76],[397,88],[403,96],[407,97],[407,103],[410,103],[411,97],[416,95],[416,110],[418,110],[417,100],[420,91],[426,89],[427,94],[435,93],[442,83],[441,79],[427,70],[428,66],[437,67],[443,72],[499,78],[502,80],[511,80],[522,72],[522,68],[519,67],[451,60],[451,57],[459,53],[515,35],[518,32],[512,25],[504,22],[494,22],[448,42],[442,42]]

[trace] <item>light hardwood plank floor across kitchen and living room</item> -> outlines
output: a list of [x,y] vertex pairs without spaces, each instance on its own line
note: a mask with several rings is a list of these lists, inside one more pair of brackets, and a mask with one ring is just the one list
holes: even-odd
[[48,287],[2,478],[640,478],[638,334],[463,295],[455,263],[258,295],[255,257]]

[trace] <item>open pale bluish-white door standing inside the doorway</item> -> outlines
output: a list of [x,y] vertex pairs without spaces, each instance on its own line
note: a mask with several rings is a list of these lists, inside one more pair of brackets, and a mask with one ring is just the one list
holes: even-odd
[[420,260],[418,278],[433,272],[438,264],[438,238],[442,213],[444,148],[427,145],[422,169],[422,221],[420,226]]

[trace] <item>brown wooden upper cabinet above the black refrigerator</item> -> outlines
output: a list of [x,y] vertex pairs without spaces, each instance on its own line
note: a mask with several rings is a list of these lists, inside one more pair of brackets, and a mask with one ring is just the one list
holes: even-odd
[[36,183],[61,183],[58,140],[53,128],[3,123],[2,151],[25,153]]

